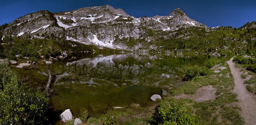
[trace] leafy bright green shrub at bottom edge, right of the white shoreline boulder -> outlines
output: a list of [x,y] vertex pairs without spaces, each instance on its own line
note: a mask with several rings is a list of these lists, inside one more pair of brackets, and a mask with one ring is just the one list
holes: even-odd
[[153,117],[161,125],[195,125],[198,122],[196,116],[188,115],[182,101],[172,98],[161,101]]

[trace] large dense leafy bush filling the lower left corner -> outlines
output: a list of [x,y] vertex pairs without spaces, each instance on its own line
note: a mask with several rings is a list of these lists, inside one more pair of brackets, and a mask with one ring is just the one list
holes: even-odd
[[22,82],[9,66],[0,65],[0,121],[2,124],[42,124],[47,101],[39,88]]

